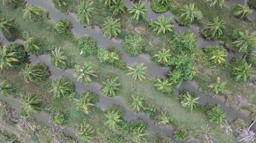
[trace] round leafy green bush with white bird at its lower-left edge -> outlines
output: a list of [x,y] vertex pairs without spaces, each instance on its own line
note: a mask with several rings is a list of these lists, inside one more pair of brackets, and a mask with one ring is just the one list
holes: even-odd
[[84,36],[78,40],[78,47],[81,49],[81,54],[86,57],[96,53],[97,42],[90,36]]

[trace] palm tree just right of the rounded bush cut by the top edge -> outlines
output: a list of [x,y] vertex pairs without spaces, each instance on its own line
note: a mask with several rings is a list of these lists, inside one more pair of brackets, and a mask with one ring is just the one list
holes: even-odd
[[201,19],[202,16],[201,11],[196,9],[195,4],[186,4],[180,9],[178,21],[183,25],[192,24],[193,21]]

